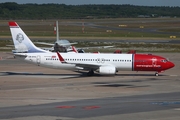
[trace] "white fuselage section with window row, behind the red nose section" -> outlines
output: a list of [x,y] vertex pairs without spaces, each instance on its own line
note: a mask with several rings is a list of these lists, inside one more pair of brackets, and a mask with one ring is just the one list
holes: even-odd
[[[132,54],[74,54],[61,53],[66,64],[59,60],[57,53],[24,53],[26,61],[34,64],[57,68],[57,69],[88,69],[88,65],[94,66],[113,66],[116,70],[132,71],[133,55]],[[78,65],[79,64],[79,65]],[[86,64],[84,67],[83,64]],[[82,67],[81,67],[82,65]],[[95,68],[96,69],[96,68]]]

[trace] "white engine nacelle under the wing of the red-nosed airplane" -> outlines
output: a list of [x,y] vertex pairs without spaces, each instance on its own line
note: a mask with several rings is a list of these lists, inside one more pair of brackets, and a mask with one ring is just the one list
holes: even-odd
[[99,67],[99,73],[104,75],[116,74],[116,68],[114,66],[101,66]]

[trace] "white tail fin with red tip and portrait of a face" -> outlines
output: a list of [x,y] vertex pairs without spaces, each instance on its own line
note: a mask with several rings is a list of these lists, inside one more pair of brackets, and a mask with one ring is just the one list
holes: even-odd
[[9,22],[9,27],[14,42],[15,53],[48,52],[36,47],[16,22]]

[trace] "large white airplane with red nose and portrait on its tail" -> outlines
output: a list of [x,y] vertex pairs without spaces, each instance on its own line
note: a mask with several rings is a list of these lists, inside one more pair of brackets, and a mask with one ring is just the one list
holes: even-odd
[[[16,22],[9,22],[16,58],[38,66],[55,69],[88,71],[88,75],[115,75],[118,71],[153,71],[155,76],[173,68],[173,62],[152,54],[60,53],[36,47]],[[20,51],[20,52],[19,52]]]

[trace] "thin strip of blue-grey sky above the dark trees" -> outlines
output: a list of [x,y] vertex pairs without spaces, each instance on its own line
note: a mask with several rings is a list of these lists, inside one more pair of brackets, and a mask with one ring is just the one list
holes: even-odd
[[83,5],[83,4],[130,4],[143,6],[179,6],[180,0],[0,0],[0,3],[16,2],[18,4],[26,3],[57,3],[66,5]]

